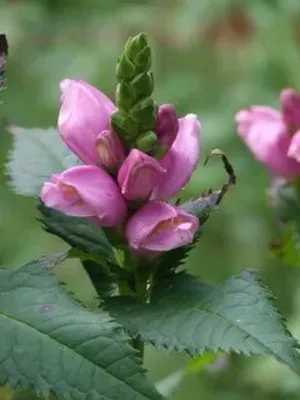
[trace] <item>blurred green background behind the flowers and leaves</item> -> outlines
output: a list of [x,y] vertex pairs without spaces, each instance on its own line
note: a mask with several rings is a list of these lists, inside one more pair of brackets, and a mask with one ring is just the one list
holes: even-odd
[[[113,96],[115,63],[126,39],[148,33],[155,98],[174,103],[180,114],[198,114],[202,160],[212,148],[221,148],[238,177],[187,268],[210,282],[248,267],[257,269],[298,339],[300,270],[269,254],[269,242],[278,233],[266,196],[269,177],[237,137],[233,115],[252,104],[276,106],[283,87],[300,89],[299,17],[299,0],[0,0],[0,31],[10,44],[1,112],[24,127],[55,126],[59,81],[65,77],[86,79]],[[0,129],[4,165],[11,138]],[[218,187],[224,179],[219,160],[200,165],[185,196]],[[13,194],[7,180],[3,170],[0,262],[16,268],[65,245],[41,231],[34,201]],[[90,283],[76,263],[57,274],[93,306]],[[300,398],[299,378],[276,361],[242,356],[225,361],[219,368],[186,376],[172,398]],[[146,367],[156,382],[188,362],[186,355],[147,348]]]

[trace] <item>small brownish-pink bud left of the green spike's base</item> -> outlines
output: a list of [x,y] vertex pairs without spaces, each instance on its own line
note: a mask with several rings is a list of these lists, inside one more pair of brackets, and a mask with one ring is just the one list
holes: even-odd
[[118,135],[111,131],[102,131],[96,139],[96,149],[101,165],[110,171],[117,170],[125,158],[125,151]]

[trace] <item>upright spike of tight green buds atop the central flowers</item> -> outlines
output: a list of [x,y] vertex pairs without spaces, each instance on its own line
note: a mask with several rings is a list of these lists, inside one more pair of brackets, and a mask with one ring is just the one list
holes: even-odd
[[117,63],[118,111],[111,119],[112,128],[126,143],[153,153],[158,146],[154,133],[157,105],[151,98],[154,89],[151,68],[151,50],[147,37],[140,33],[130,38]]

